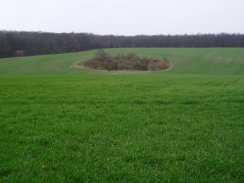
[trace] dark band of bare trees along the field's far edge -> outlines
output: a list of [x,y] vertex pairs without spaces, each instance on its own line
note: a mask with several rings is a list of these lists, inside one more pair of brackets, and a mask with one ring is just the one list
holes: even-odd
[[101,36],[87,33],[0,31],[0,57],[122,47],[244,47],[244,34]]

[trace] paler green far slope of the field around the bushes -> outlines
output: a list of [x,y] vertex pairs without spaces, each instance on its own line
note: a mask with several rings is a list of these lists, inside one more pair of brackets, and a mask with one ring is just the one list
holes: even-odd
[[[111,54],[134,52],[141,56],[167,58],[173,65],[169,73],[234,74],[244,73],[243,48],[135,48],[107,49]],[[70,66],[92,57],[94,51],[0,59],[0,75],[4,74],[83,74]]]

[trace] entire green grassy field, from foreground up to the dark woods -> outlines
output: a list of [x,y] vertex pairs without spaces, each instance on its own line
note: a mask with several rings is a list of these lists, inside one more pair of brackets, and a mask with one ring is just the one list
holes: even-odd
[[244,182],[244,49],[108,49],[169,71],[0,59],[0,182]]

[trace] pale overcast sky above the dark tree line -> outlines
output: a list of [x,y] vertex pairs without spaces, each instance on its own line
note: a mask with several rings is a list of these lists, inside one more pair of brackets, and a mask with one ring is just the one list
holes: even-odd
[[0,30],[244,33],[244,0],[0,0]]

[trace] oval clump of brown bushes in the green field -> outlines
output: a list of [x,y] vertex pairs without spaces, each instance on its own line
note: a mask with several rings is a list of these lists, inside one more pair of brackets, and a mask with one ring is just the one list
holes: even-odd
[[118,54],[111,56],[103,49],[97,51],[94,58],[83,62],[83,66],[97,70],[108,71],[156,71],[164,70],[170,66],[167,59],[159,60],[140,57],[135,53]]

